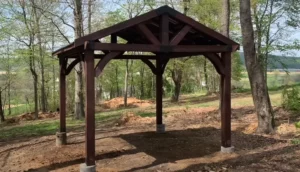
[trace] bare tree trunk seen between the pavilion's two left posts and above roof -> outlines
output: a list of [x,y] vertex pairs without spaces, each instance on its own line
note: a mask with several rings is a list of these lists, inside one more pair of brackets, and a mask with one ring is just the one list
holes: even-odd
[[[75,18],[75,37],[82,36],[82,1],[75,0],[74,8]],[[76,119],[84,117],[84,101],[83,101],[83,77],[82,77],[82,64],[78,63],[75,66],[75,107],[74,116]]]

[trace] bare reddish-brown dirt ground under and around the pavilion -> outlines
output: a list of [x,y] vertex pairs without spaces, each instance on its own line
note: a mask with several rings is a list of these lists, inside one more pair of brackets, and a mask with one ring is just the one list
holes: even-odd
[[[277,109],[277,132],[264,136],[254,133],[253,112],[253,107],[233,109],[231,154],[220,153],[217,109],[168,112],[165,134],[155,133],[155,118],[126,114],[97,128],[97,171],[300,171],[300,145],[290,143],[297,131],[289,114]],[[54,133],[14,140],[0,143],[0,171],[78,171],[84,153],[82,131],[69,132],[63,147],[55,147]]]

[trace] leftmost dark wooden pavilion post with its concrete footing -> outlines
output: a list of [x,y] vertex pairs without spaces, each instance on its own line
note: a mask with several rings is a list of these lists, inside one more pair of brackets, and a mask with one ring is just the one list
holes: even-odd
[[56,146],[67,144],[66,134],[66,60],[59,57],[59,132],[56,133]]

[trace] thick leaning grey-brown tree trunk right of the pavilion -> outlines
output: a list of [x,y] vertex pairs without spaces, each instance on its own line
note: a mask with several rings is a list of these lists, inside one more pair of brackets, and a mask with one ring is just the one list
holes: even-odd
[[257,133],[273,132],[272,106],[264,78],[263,66],[257,60],[254,43],[254,31],[251,20],[250,0],[240,0],[240,21],[243,37],[243,49],[249,76],[253,102],[258,117]]

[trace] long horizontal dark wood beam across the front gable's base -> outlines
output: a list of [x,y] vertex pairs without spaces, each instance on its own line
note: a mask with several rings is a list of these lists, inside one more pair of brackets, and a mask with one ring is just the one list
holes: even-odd
[[232,52],[231,45],[176,45],[176,46],[160,46],[149,44],[109,44],[95,43],[94,50],[109,51],[140,51],[140,52],[157,52],[157,53],[221,53]]

